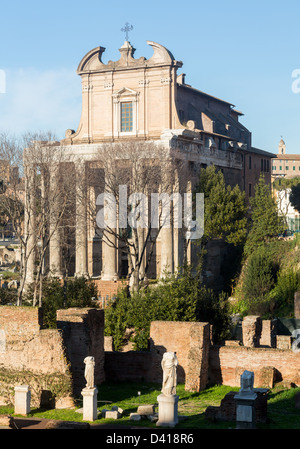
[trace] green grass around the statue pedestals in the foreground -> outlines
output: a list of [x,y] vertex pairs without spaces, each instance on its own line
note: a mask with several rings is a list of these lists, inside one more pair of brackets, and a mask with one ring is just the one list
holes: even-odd
[[[187,392],[184,385],[177,386],[179,396],[178,413],[185,416],[180,420],[176,429],[234,429],[235,422],[210,422],[205,417],[205,410],[209,405],[219,406],[223,397],[229,391],[238,391],[239,388],[225,385],[212,386],[199,393]],[[138,395],[138,391],[141,395]],[[259,429],[300,429],[300,410],[295,408],[295,394],[299,388],[282,390],[274,388],[269,392],[268,399],[268,423],[257,424]],[[156,428],[155,423],[147,419],[131,421],[130,413],[135,413],[139,405],[156,404],[160,394],[160,385],[145,383],[112,383],[105,382],[98,386],[98,410],[111,409],[118,405],[124,410],[123,416],[118,420],[100,417],[94,424],[115,424]],[[77,408],[82,407],[82,401],[77,401]],[[0,414],[13,415],[12,407],[0,407]],[[62,421],[82,422],[82,414],[73,410],[41,410],[34,409],[30,415],[34,418],[55,419]]]

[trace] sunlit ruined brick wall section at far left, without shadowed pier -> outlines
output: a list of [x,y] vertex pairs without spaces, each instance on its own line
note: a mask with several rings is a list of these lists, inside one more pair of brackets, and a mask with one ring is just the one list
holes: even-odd
[[71,394],[71,376],[62,334],[42,329],[41,309],[0,306],[0,402],[12,402],[15,385],[29,384],[32,403],[40,405],[43,392],[57,400]]

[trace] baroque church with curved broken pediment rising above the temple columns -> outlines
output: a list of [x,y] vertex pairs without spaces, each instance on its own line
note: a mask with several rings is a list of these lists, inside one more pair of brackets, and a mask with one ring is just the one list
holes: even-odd
[[[178,73],[183,63],[164,46],[152,41],[147,44],[153,49],[150,59],[135,59],[135,49],[126,40],[118,61],[104,63],[103,47],[89,51],[80,61],[82,113],[78,128],[68,129],[60,142],[45,143],[73,156],[74,186],[76,179],[86,176],[85,165],[96,159],[99,149],[126,141],[154,142],[166,152],[172,149],[185,161],[191,188],[200,169],[211,164],[222,170],[228,184],[245,190],[247,198],[261,171],[270,183],[274,155],[252,147],[251,132],[240,123],[243,114],[233,104],[186,84],[185,74]],[[99,185],[91,186],[94,198],[103,189],[104,179],[102,174]],[[111,292],[105,290],[105,282],[107,286],[118,284],[126,276],[126,260],[118,245],[105,242],[94,218],[79,213],[80,207],[84,206],[76,202],[74,252],[68,274],[99,279],[105,294]],[[183,262],[178,233],[172,227],[164,231],[166,234],[158,235],[148,277],[159,278],[166,268],[174,272]],[[59,230],[51,236],[45,266],[54,268],[59,276],[64,274]],[[30,279],[33,264],[28,267]]]

